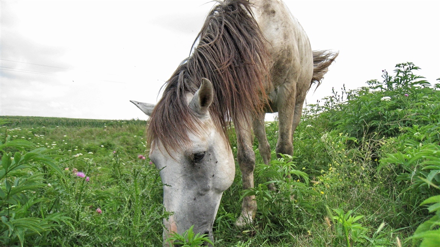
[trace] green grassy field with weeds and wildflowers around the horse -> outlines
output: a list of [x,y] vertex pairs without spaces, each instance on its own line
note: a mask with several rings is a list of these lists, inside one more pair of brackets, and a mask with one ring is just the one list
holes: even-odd
[[[255,189],[242,191],[237,166],[215,246],[438,246],[440,85],[417,70],[397,65],[381,82],[308,106],[292,158],[273,152],[270,166],[261,164],[254,143]],[[139,158],[148,154],[146,121],[0,121],[0,246],[162,245],[161,219],[170,213],[158,171]],[[266,132],[274,149],[277,122]],[[268,177],[277,191],[267,189]],[[238,228],[243,194],[256,195],[258,212],[253,225]]]

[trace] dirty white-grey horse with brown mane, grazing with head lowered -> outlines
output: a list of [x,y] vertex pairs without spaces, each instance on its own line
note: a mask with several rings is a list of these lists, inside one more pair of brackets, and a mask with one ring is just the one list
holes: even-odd
[[[224,0],[213,7],[186,58],[156,105],[132,101],[150,116],[150,159],[160,171],[164,246],[193,226],[213,240],[223,191],[235,176],[228,138],[237,135],[243,189],[254,187],[257,137],[264,163],[270,146],[265,112],[278,112],[277,154],[293,154],[292,135],[306,94],[320,85],[338,52],[312,51],[308,36],[282,1]],[[255,196],[242,200],[236,225],[251,224]],[[172,243],[171,243],[172,244]]]

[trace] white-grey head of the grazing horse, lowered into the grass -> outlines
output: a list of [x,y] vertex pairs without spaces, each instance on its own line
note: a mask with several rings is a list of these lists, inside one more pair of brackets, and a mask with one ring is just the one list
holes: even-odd
[[170,234],[182,234],[192,225],[195,233],[208,234],[212,239],[221,196],[234,180],[235,163],[229,140],[208,111],[213,94],[211,82],[204,78],[194,95],[187,94],[188,106],[197,116],[196,130],[188,131],[189,145],[167,149],[161,141],[151,144],[149,157],[160,171],[163,205],[166,211],[173,212],[163,220],[164,246],[169,245]]

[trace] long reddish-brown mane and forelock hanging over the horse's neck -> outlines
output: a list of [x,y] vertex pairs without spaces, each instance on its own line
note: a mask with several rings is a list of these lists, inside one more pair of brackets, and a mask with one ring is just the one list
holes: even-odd
[[272,59],[250,7],[247,0],[225,0],[211,10],[193,54],[167,81],[150,116],[149,145],[160,141],[170,153],[190,143],[188,132],[197,134],[200,122],[188,106],[187,94],[198,90],[203,77],[212,82],[209,112],[226,139],[232,122],[242,128],[252,114],[263,111]]

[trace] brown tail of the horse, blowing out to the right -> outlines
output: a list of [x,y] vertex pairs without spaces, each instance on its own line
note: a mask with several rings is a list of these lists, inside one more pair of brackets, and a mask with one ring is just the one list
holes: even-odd
[[334,62],[338,55],[339,52],[332,52],[330,50],[313,51],[313,76],[310,82],[310,87],[315,83],[318,83],[316,88],[321,85],[324,75],[329,71],[329,66]]

